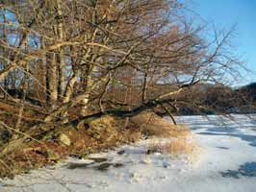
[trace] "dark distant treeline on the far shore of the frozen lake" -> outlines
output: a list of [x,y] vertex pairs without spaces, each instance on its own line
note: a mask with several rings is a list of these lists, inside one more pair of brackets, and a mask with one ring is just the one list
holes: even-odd
[[192,94],[185,95],[185,98],[183,98],[189,101],[190,98],[193,98],[193,101],[190,101],[192,105],[179,108],[177,114],[256,112],[256,83],[239,88],[216,84],[198,84],[193,89]]

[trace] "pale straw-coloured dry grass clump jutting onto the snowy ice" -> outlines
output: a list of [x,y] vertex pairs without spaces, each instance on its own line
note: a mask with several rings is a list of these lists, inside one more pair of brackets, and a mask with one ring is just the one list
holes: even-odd
[[192,132],[186,125],[173,125],[168,120],[151,112],[143,112],[132,119],[140,125],[141,132],[154,136],[147,145],[148,153],[186,155],[194,161],[198,146],[192,139]]

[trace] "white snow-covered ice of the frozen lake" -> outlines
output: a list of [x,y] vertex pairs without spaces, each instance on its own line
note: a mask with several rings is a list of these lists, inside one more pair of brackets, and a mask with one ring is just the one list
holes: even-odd
[[[196,159],[147,155],[152,139],[123,146],[95,159],[66,159],[54,167],[0,180],[0,191],[255,192],[256,115],[182,116],[200,146]],[[106,159],[107,161],[105,161]]]

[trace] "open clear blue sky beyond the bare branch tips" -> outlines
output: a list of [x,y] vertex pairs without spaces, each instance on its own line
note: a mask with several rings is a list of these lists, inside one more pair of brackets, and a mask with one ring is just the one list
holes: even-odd
[[233,39],[239,55],[248,69],[246,84],[256,82],[256,0],[187,0],[192,10],[218,29],[229,29],[236,24]]

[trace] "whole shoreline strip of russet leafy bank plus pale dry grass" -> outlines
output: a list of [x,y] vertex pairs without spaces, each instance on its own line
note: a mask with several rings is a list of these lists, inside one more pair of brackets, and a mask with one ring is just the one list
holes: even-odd
[[[54,164],[66,156],[85,157],[122,144],[138,141],[142,135],[170,138],[170,145],[159,145],[161,152],[171,154],[189,150],[188,128],[171,125],[153,112],[142,112],[130,119],[104,116],[77,128],[60,128],[46,132],[5,156],[0,156],[0,178],[12,178],[31,169]],[[156,145],[157,146],[157,145]],[[153,146],[151,146],[153,147]],[[186,152],[187,152],[186,151]]]

